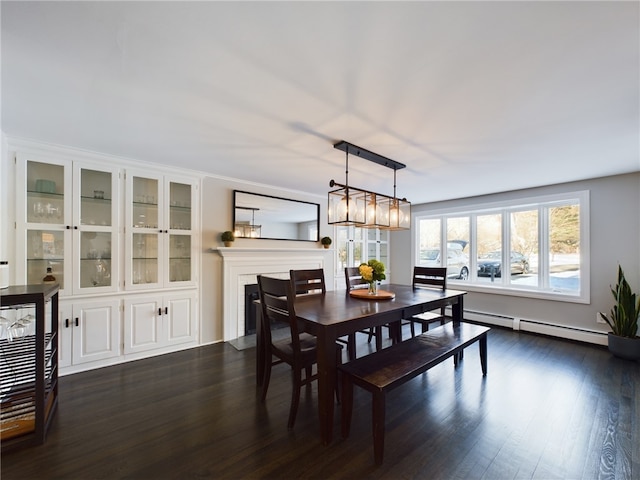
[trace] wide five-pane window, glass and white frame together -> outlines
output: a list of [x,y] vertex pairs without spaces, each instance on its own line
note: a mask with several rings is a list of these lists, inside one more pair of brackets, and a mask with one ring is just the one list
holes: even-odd
[[588,192],[418,213],[415,264],[470,291],[587,303],[588,218]]

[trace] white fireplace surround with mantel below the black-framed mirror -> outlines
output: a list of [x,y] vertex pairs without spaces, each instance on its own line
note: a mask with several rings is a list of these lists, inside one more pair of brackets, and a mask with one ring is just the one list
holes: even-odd
[[[244,329],[244,286],[257,283],[258,275],[289,278],[289,270],[325,268],[331,250],[319,248],[220,247],[222,257],[222,311],[225,342],[242,337]],[[332,262],[329,262],[329,265]],[[326,270],[325,270],[326,273]]]

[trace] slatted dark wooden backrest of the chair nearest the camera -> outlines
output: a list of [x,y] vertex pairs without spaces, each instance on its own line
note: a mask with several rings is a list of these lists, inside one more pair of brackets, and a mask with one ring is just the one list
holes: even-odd
[[293,288],[288,279],[258,275],[258,290],[262,308],[262,331],[266,343],[271,343],[271,327],[275,323],[284,323],[291,333],[291,345],[294,353],[300,352],[300,338],[297,316],[294,307]]

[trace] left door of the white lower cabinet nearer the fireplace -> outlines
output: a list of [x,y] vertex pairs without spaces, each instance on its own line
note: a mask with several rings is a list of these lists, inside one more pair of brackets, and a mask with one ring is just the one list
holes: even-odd
[[125,301],[124,353],[142,352],[162,346],[162,305],[154,299]]

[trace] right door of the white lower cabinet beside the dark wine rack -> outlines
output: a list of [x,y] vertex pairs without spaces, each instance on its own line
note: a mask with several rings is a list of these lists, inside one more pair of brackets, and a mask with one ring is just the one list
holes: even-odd
[[113,300],[76,305],[73,318],[74,364],[104,360],[120,354],[119,304],[118,300]]

